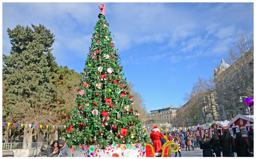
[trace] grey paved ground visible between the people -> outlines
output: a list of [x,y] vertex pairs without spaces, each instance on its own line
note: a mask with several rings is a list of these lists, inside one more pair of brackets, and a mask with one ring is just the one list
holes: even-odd
[[[201,150],[198,147],[198,148],[195,148],[195,150],[186,151],[186,146],[185,146],[184,149],[181,148],[180,154],[181,154],[181,157],[203,157],[203,150]],[[237,157],[236,153],[234,153],[234,155],[235,155],[235,157]],[[171,157],[174,157],[174,156],[175,156],[175,153],[171,153]],[[177,152],[177,156],[179,157],[179,152]],[[39,157],[39,156],[37,156],[37,157]],[[46,157],[46,155],[43,155],[40,157]],[[222,157],[222,153],[221,153],[221,157]]]

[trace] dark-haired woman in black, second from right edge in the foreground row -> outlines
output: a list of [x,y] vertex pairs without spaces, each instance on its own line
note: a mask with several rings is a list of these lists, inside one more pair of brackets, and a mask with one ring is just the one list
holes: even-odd
[[249,146],[245,142],[245,139],[242,137],[242,134],[240,132],[237,132],[235,139],[235,152],[237,154],[237,157],[248,157],[246,153],[248,148]]

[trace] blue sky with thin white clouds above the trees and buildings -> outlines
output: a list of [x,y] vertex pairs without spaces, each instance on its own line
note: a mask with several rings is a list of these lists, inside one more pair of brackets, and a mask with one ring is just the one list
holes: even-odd
[[[10,55],[7,28],[39,23],[55,35],[58,65],[83,72],[97,3],[2,3],[2,51]],[[253,30],[253,3],[104,3],[106,20],[127,81],[147,110],[185,104],[198,77],[208,79],[233,47]]]

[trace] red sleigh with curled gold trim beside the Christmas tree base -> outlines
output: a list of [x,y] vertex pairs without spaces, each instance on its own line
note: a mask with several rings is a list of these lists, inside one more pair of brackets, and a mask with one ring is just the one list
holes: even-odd
[[[172,148],[171,145],[174,145],[174,147]],[[171,156],[170,152],[175,153],[178,150],[179,150],[179,147],[176,143],[174,143],[173,141],[168,141],[164,143],[164,145],[162,146],[161,157],[170,157]],[[146,143],[146,157],[156,157],[153,145],[151,143]]]

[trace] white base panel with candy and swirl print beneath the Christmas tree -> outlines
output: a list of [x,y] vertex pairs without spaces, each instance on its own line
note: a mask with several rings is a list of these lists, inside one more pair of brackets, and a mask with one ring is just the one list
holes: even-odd
[[145,144],[73,145],[69,149],[73,157],[145,157]]

